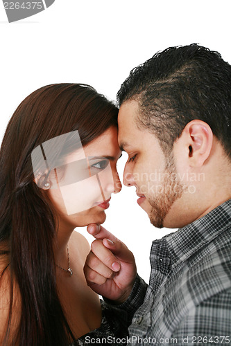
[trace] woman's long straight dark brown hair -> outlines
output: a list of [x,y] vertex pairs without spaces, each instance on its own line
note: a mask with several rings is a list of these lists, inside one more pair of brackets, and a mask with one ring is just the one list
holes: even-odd
[[[73,339],[55,285],[53,242],[58,220],[44,190],[33,181],[31,152],[44,141],[75,130],[84,146],[117,126],[117,113],[117,107],[91,86],[51,84],[28,95],[8,123],[0,152],[0,244],[7,244],[11,274],[4,345],[67,346]],[[22,312],[17,333],[9,341],[13,282],[19,288]]]

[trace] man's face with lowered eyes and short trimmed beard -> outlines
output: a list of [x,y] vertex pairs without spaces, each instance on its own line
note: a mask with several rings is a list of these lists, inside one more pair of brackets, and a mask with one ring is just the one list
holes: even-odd
[[174,205],[184,188],[178,180],[173,156],[164,156],[154,134],[138,129],[138,113],[136,101],[124,102],[119,110],[119,145],[128,153],[123,183],[135,186],[140,197],[137,203],[154,226],[174,228],[178,216]]

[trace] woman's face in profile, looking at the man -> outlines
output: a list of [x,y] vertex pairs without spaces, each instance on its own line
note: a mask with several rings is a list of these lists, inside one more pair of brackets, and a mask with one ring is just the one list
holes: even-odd
[[117,173],[120,156],[116,127],[67,156],[58,188],[52,188],[51,179],[51,189],[47,190],[60,227],[103,224],[112,192],[121,190]]

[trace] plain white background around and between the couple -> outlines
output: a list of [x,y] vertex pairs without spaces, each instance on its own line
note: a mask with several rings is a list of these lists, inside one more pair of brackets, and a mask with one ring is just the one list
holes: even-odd
[[[46,84],[81,82],[114,100],[130,69],[169,46],[198,43],[231,62],[230,0],[55,0],[8,24],[0,4],[0,140],[26,95]],[[123,173],[126,155],[118,163]],[[0,167],[1,169],[1,167]],[[135,254],[148,282],[151,241],[171,232],[151,226],[135,188],[112,197],[104,226]],[[88,237],[85,228],[80,232]]]

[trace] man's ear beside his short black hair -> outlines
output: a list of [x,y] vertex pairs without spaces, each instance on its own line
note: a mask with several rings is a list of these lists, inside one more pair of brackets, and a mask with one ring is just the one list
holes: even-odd
[[202,120],[192,120],[183,129],[188,146],[188,159],[191,167],[201,167],[212,149],[213,133]]

